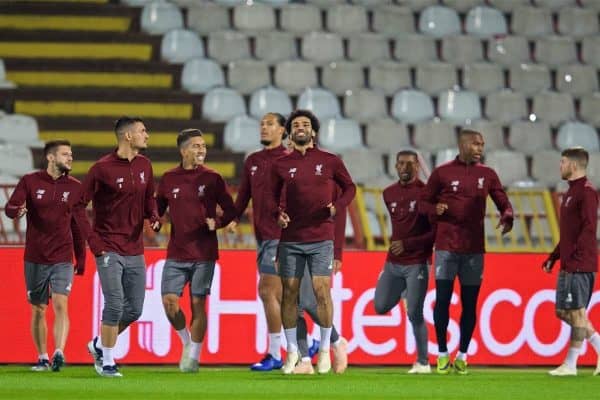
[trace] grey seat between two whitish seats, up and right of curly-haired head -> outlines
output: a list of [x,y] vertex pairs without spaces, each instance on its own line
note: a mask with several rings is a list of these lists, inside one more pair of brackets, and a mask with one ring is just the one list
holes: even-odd
[[385,118],[387,116],[385,96],[377,90],[349,91],[344,96],[344,115],[360,123]]

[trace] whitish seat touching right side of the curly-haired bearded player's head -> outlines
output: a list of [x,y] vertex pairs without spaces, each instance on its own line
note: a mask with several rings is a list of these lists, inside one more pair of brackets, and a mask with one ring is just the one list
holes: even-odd
[[[320,117],[319,117],[320,118]],[[319,145],[333,152],[363,147],[358,123],[348,118],[321,118]]]

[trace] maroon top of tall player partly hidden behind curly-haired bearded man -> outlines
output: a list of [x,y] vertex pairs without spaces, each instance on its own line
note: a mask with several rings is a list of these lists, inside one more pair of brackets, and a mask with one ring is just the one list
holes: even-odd
[[271,166],[277,158],[287,154],[285,147],[263,149],[246,158],[235,199],[236,218],[248,207],[252,198],[254,234],[258,240],[279,239],[281,228],[277,225],[277,203],[273,197]]

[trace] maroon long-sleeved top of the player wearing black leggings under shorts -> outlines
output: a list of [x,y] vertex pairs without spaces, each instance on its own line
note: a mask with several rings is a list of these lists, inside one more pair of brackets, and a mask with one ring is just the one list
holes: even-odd
[[502,214],[512,222],[513,209],[496,172],[481,163],[466,164],[457,157],[433,170],[423,189],[423,200],[448,204],[436,218],[436,250],[483,253],[484,217],[488,194]]

